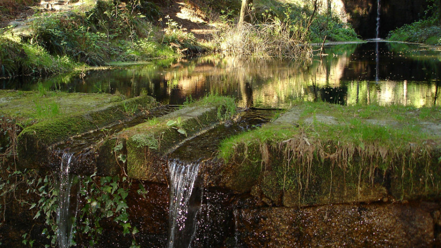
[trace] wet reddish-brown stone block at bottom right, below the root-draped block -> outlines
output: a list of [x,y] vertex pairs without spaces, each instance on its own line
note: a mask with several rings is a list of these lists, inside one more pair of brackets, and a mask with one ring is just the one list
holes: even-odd
[[270,207],[235,213],[237,247],[432,247],[434,224],[420,205]]

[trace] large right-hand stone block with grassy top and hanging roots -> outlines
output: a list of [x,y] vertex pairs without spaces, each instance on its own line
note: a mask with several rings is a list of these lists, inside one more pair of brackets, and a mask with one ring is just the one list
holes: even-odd
[[266,197],[281,204],[283,195],[285,206],[378,200],[384,189],[395,199],[437,196],[439,120],[439,107],[300,103],[272,124],[224,140],[223,176],[240,192],[262,180],[262,190],[272,188]]

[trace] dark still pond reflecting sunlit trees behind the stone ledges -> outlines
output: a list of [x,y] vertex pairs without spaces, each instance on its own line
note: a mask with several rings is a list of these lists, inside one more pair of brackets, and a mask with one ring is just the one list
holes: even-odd
[[[376,52],[378,51],[378,53]],[[85,93],[142,93],[181,104],[212,92],[234,96],[240,106],[284,108],[293,101],[339,104],[440,105],[441,51],[411,44],[368,42],[326,46],[312,61],[240,61],[201,57],[152,62],[47,79],[1,80],[5,89]]]

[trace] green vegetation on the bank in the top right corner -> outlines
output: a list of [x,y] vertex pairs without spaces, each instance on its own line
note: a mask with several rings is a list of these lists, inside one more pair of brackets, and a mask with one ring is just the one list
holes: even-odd
[[441,45],[441,2],[429,0],[429,8],[423,18],[392,30],[387,39]]

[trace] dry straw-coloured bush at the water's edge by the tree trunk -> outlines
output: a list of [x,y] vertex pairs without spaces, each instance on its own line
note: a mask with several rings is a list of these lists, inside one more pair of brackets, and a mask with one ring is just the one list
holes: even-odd
[[226,55],[251,58],[297,59],[310,57],[311,48],[306,44],[307,25],[291,18],[286,6],[283,20],[264,13],[263,21],[255,25],[228,25],[214,37],[214,47]]

